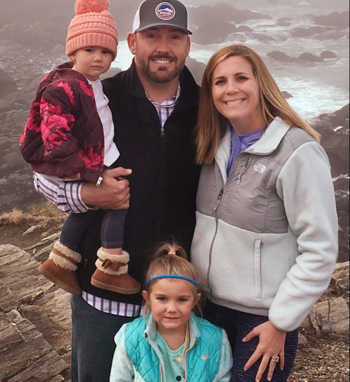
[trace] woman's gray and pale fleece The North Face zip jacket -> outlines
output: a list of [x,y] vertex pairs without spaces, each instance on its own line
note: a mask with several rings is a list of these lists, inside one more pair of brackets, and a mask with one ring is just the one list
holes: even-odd
[[302,129],[276,118],[237,156],[231,131],[200,176],[191,262],[215,304],[292,331],[330,282],[338,221],[330,164]]

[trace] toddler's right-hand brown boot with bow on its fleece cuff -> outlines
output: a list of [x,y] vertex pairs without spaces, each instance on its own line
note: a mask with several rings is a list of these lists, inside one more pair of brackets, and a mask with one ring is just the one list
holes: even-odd
[[127,273],[129,262],[127,252],[122,251],[121,255],[111,255],[100,248],[97,256],[96,271],[91,277],[92,285],[123,295],[133,295],[141,290],[141,284]]

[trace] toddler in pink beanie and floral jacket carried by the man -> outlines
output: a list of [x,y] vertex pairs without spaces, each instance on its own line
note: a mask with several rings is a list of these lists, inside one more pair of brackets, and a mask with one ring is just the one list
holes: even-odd
[[[108,0],[77,0],[66,39],[71,62],[42,79],[21,135],[20,149],[32,165],[36,187],[56,204],[58,191],[48,188],[46,179],[54,180],[57,190],[67,186],[60,186],[62,182],[70,182],[70,188],[79,187],[77,182],[99,186],[102,172],[119,156],[112,113],[99,80],[117,55],[118,32],[108,5]],[[75,271],[81,256],[77,251],[94,214],[76,209],[81,213],[65,220],[60,240],[38,269],[59,287],[79,295]],[[128,275],[129,255],[122,251],[125,215],[126,210],[104,211],[102,246],[91,283],[134,294],[141,285]]]

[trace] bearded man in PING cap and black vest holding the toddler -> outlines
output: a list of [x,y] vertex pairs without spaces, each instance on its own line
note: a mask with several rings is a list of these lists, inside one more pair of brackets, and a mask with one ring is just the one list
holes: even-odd
[[[127,37],[133,63],[103,81],[119,167],[103,173],[100,187],[85,184],[67,196],[67,203],[75,205],[129,207],[123,249],[130,255],[129,274],[141,284],[156,246],[173,238],[189,253],[194,230],[199,168],[194,164],[193,128],[199,87],[185,67],[190,34],[187,10],[178,0],[145,0],[140,5]],[[115,179],[126,175],[130,195],[128,182]],[[100,213],[90,213],[96,219],[81,245],[77,271],[83,293],[71,300],[73,382],[109,380],[114,335],[139,315],[142,304],[141,294],[120,295],[91,285],[101,243]]]

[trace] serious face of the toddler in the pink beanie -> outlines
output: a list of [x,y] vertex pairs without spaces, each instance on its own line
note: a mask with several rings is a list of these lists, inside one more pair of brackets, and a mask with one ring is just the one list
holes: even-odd
[[110,69],[113,61],[113,53],[102,47],[78,49],[70,57],[74,62],[72,69],[90,81],[96,81],[101,74]]

